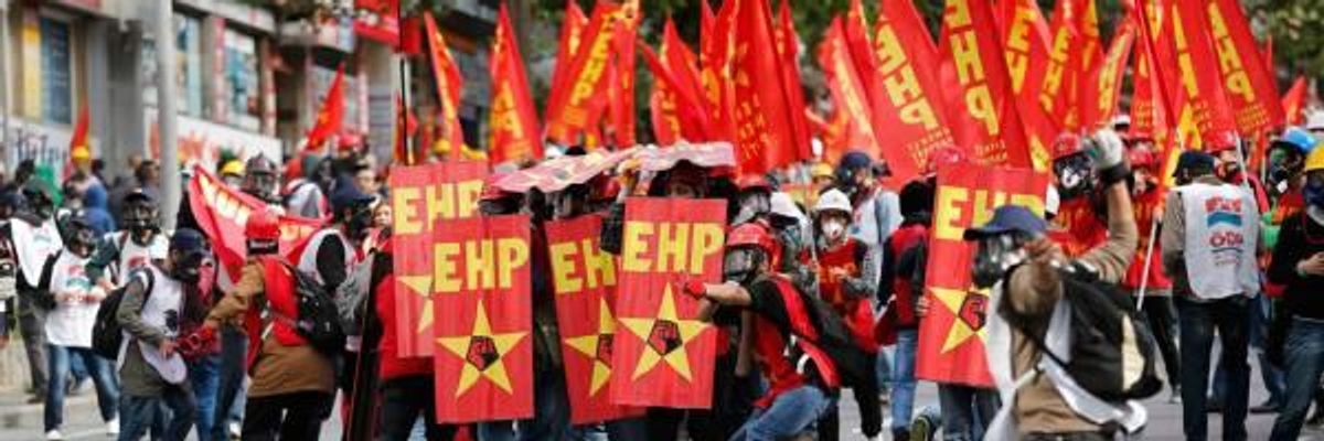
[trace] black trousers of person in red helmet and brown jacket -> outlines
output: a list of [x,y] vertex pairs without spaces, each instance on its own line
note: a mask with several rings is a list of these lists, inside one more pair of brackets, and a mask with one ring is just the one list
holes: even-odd
[[322,421],[331,416],[335,396],[324,392],[293,392],[249,397],[244,408],[245,441],[318,440]]

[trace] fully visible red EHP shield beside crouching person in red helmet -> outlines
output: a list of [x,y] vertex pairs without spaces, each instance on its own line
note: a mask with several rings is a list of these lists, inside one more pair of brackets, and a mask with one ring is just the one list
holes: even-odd
[[625,204],[612,403],[708,408],[716,330],[695,318],[686,281],[718,282],[723,200],[630,199]]

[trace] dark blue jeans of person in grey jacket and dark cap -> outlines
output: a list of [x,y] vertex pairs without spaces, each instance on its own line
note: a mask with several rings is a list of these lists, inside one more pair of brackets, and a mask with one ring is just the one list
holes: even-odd
[[119,441],[138,441],[148,429],[152,440],[183,441],[195,415],[193,392],[185,385],[167,385],[160,396],[120,395]]

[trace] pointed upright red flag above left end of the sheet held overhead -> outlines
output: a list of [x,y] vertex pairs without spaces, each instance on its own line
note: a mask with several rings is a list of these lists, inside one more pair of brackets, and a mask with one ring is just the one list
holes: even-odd
[[528,93],[524,60],[510,25],[510,13],[502,4],[491,52],[493,107],[487,121],[491,124],[487,148],[489,162],[500,164],[511,160],[543,158],[543,143],[538,131],[538,111]]

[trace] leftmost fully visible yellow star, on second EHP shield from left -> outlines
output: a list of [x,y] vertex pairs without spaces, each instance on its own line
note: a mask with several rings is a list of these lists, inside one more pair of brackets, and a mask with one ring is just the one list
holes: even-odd
[[437,343],[465,360],[459,371],[459,383],[455,384],[455,397],[465,395],[478,383],[478,377],[486,377],[506,393],[511,393],[510,376],[506,375],[504,356],[528,332],[494,334],[491,323],[487,320],[487,309],[483,301],[478,301],[478,311],[474,315],[474,327],[470,335],[441,336]]

